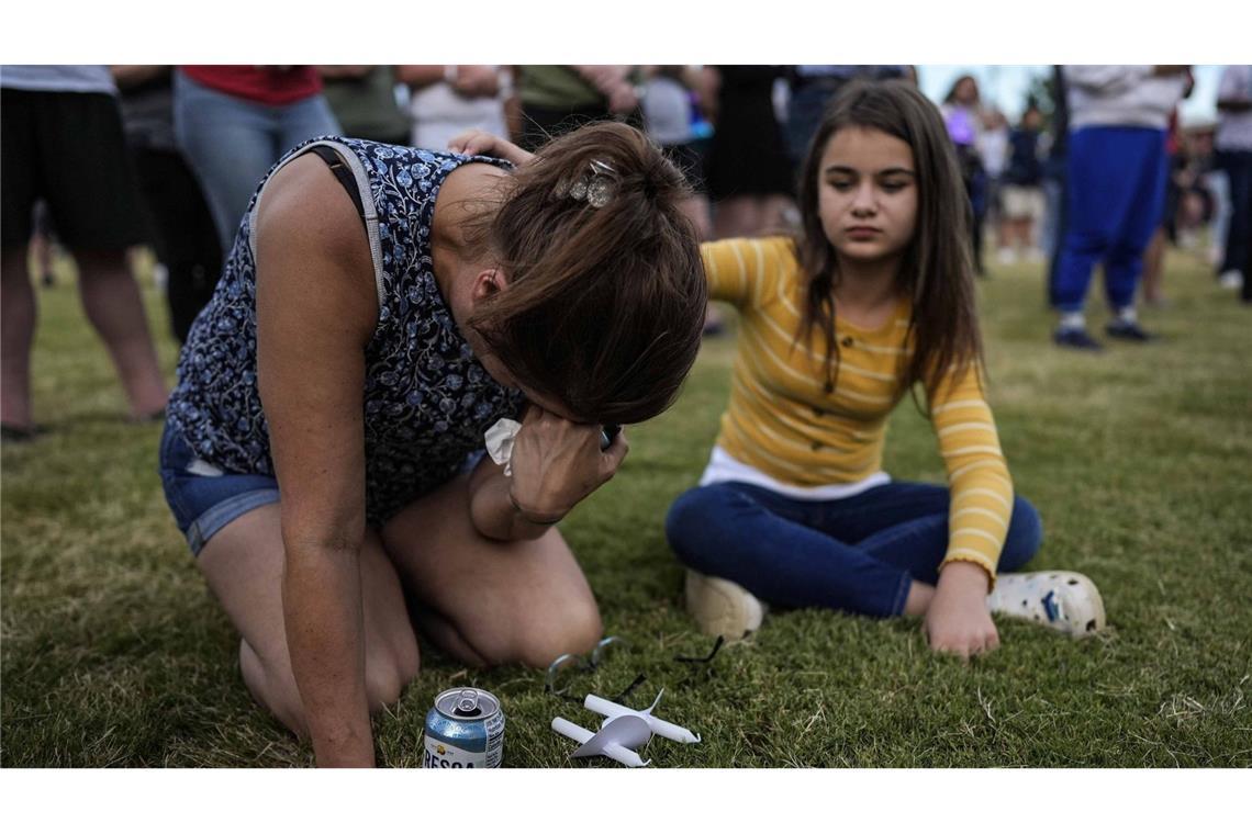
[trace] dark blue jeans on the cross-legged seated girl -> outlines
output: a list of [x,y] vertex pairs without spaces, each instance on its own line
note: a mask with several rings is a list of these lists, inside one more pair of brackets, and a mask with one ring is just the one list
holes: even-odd
[[[948,550],[948,489],[891,483],[806,501],[740,483],[687,490],[665,535],[686,566],[784,608],[895,616],[913,580],[934,584]],[[1017,570],[1043,539],[1025,499],[1013,506],[999,570]]]

